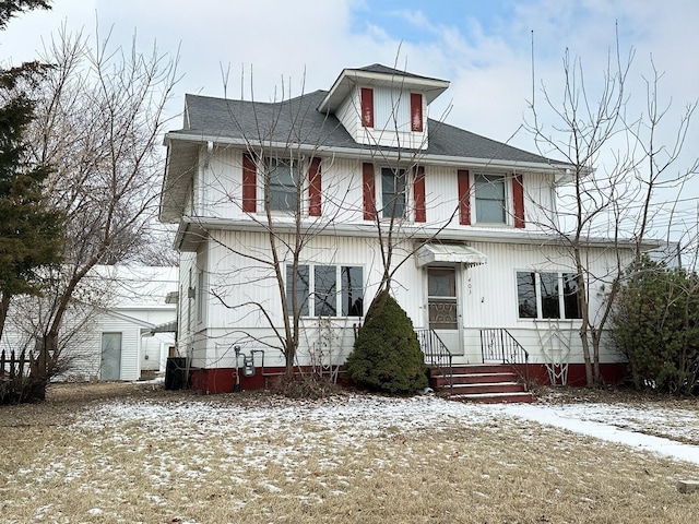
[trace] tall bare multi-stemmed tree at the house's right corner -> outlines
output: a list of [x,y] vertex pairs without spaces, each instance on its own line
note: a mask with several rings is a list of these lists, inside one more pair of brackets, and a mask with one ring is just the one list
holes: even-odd
[[[656,134],[667,108],[659,107],[657,72],[648,82],[648,114],[636,119],[628,117],[626,86],[632,59],[631,51],[628,59],[621,60],[617,41],[594,98],[595,91],[585,79],[582,61],[571,59],[566,51],[562,98],[555,100],[546,86],[542,90],[553,123],[544,124],[543,112],[532,100],[533,118],[528,124],[540,151],[562,157],[569,167],[566,177],[569,186],[558,188],[560,205],[552,214],[556,219],[545,226],[564,242],[576,275],[579,334],[589,386],[602,380],[600,350],[627,269],[629,264],[638,267],[652,243],[649,231],[657,231],[653,228],[653,215],[667,211],[657,204],[659,190],[682,188],[697,170],[695,163],[684,172],[668,176],[682,152],[696,105],[689,106],[680,118],[670,148],[659,144]],[[595,168],[603,155],[613,158],[604,171]],[[600,273],[593,267],[590,250],[602,243],[612,257]],[[604,300],[602,308],[595,309],[599,289],[604,293]]]

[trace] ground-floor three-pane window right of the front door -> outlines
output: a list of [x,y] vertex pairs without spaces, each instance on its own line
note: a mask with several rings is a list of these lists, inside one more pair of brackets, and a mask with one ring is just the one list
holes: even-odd
[[571,273],[517,273],[520,319],[579,319],[578,293]]

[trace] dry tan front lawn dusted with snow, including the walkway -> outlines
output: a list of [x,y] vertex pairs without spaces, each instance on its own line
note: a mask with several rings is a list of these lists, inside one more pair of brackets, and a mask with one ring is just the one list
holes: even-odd
[[130,388],[0,408],[1,523],[684,524],[699,513],[699,493],[676,490],[699,478],[696,403]]

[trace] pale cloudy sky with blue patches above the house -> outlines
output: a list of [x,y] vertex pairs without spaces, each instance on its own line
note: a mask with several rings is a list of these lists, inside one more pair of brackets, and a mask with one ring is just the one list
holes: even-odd
[[[185,93],[279,98],[327,90],[343,68],[384,63],[449,80],[430,117],[535,151],[522,124],[542,88],[559,100],[561,60],[582,61],[589,93],[603,85],[618,31],[621,56],[633,53],[626,93],[628,112],[647,111],[652,63],[663,73],[660,102],[668,107],[661,136],[670,143],[687,104],[699,98],[699,2],[695,0],[57,0],[52,12],[32,12],[0,33],[0,59],[36,57],[61,23],[94,33],[95,20],[111,45],[129,47],[134,32],[142,50],[156,43],[175,56],[183,75],[169,106],[181,110]],[[533,33],[532,33],[533,32]],[[532,52],[532,34],[534,49]],[[534,68],[532,67],[532,57]],[[651,57],[653,62],[651,62]],[[227,83],[222,72],[228,71]],[[534,74],[533,74],[534,73]],[[224,85],[226,86],[224,88]],[[699,115],[697,116],[699,119]],[[177,127],[178,124],[174,124]],[[687,139],[697,155],[699,121]],[[612,152],[601,155],[605,167]],[[677,167],[679,170],[682,166]],[[699,196],[699,184],[685,188]],[[694,205],[694,201],[692,205]],[[688,212],[687,219],[694,219]]]

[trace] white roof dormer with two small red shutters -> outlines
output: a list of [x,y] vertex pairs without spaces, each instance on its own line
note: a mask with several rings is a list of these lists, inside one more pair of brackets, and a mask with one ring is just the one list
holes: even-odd
[[425,150],[427,108],[449,82],[375,63],[342,71],[318,107],[359,144]]

